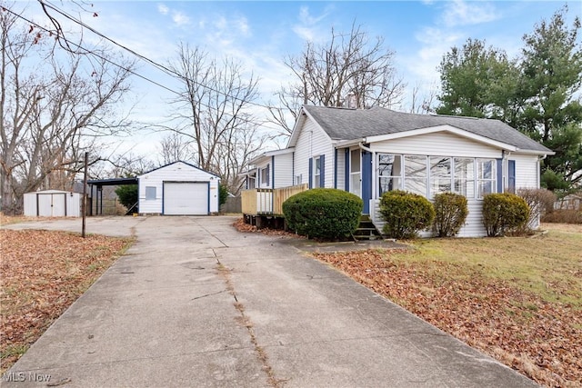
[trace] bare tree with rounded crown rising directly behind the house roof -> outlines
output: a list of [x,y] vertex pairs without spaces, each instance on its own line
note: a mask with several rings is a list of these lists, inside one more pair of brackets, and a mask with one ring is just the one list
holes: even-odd
[[281,107],[271,108],[272,122],[287,133],[302,104],[345,106],[351,95],[354,107],[368,108],[400,103],[404,83],[396,75],[394,52],[384,46],[384,38],[370,40],[360,26],[349,33],[332,28],[325,45],[307,42],[303,53],[285,59],[295,82],[277,94]]

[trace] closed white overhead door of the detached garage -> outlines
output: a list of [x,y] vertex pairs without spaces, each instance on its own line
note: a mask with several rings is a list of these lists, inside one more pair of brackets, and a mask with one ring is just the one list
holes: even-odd
[[205,182],[165,182],[164,214],[208,214],[208,184]]

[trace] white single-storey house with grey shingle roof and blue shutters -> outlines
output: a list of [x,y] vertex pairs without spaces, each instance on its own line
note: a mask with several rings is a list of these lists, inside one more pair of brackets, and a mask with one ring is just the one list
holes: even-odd
[[[288,166],[289,154],[292,164]],[[304,106],[286,150],[256,158],[271,169],[271,188],[293,184],[333,187],[358,195],[382,228],[378,205],[389,190],[432,199],[454,192],[467,197],[469,214],[459,236],[486,235],[483,195],[539,187],[539,161],[554,154],[498,120],[437,114],[406,114],[385,108]],[[279,162],[279,158],[285,156]]]

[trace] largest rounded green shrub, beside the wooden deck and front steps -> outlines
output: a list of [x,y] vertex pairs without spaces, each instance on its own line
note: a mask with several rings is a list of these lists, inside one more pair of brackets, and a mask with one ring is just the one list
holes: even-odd
[[317,188],[283,203],[287,226],[310,238],[337,240],[356,232],[364,203],[343,190]]

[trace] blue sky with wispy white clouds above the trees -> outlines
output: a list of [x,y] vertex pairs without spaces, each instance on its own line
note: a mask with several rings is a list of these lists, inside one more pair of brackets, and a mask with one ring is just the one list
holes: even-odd
[[[23,4],[23,3],[20,3]],[[53,3],[59,7],[70,4]],[[568,4],[568,19],[582,15],[582,2],[561,1],[95,1],[98,17],[82,14],[83,21],[136,52],[167,63],[176,54],[179,41],[204,47],[212,55],[227,55],[239,61],[246,72],[260,77],[261,102],[286,84],[290,72],[283,65],[286,55],[299,54],[306,39],[323,42],[333,27],[349,31],[361,25],[371,37],[383,36],[386,48],[396,52],[398,75],[406,82],[405,104],[413,87],[427,94],[439,85],[437,65],[451,46],[467,38],[485,39],[519,54],[522,36],[534,30]],[[31,2],[25,15],[40,20],[40,8]],[[85,39],[95,39],[85,33]],[[150,65],[138,72],[166,85],[169,76]],[[159,122],[169,114],[171,95],[155,85],[135,80],[134,116]]]

